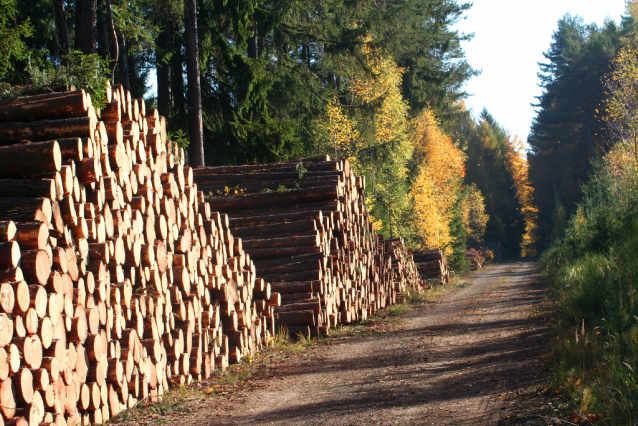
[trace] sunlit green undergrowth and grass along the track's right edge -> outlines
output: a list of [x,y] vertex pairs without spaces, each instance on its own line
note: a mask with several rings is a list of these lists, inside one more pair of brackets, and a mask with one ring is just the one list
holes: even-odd
[[637,163],[630,148],[615,147],[542,257],[557,307],[555,384],[609,425],[638,425]]

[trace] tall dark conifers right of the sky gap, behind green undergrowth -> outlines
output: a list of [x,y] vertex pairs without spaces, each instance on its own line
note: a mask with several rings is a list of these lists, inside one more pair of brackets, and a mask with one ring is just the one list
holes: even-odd
[[528,143],[530,177],[545,240],[552,232],[556,200],[561,200],[568,215],[574,211],[583,195],[580,188],[592,171],[591,162],[607,148],[598,112],[605,97],[602,78],[622,42],[622,30],[611,21],[598,27],[566,15],[545,53],[547,63],[540,65],[543,94]]

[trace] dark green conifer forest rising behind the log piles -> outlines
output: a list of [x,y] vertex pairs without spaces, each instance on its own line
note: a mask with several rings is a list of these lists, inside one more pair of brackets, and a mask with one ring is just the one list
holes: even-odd
[[0,28],[23,49],[7,53],[1,80],[29,84],[34,67],[97,54],[104,75],[133,96],[156,87],[152,102],[190,141],[191,164],[285,160],[312,152],[327,102],[347,104],[349,79],[372,72],[363,44],[404,67],[415,115],[426,106],[444,120],[457,113],[474,71],[460,48],[466,36],[451,26],[468,8],[456,0],[15,0]]

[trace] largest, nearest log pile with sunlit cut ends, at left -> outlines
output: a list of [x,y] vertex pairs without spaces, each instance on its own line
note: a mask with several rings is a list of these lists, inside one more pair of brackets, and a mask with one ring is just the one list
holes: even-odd
[[259,349],[279,303],[157,111],[0,103],[0,420],[103,423]]

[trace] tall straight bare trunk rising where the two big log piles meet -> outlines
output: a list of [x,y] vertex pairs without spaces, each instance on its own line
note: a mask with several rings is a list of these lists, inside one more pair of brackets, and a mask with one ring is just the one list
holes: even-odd
[[189,162],[192,167],[204,166],[204,128],[202,94],[199,81],[199,46],[196,0],[185,0],[186,74],[188,76],[188,136]]

